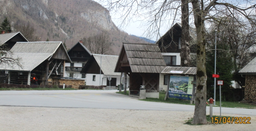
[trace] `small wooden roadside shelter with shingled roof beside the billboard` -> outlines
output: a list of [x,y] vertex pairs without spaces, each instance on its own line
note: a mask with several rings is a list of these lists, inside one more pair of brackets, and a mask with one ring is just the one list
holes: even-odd
[[159,74],[165,67],[158,45],[123,43],[115,72],[125,72],[130,77],[130,95],[137,95],[143,85],[147,98],[159,98]]

